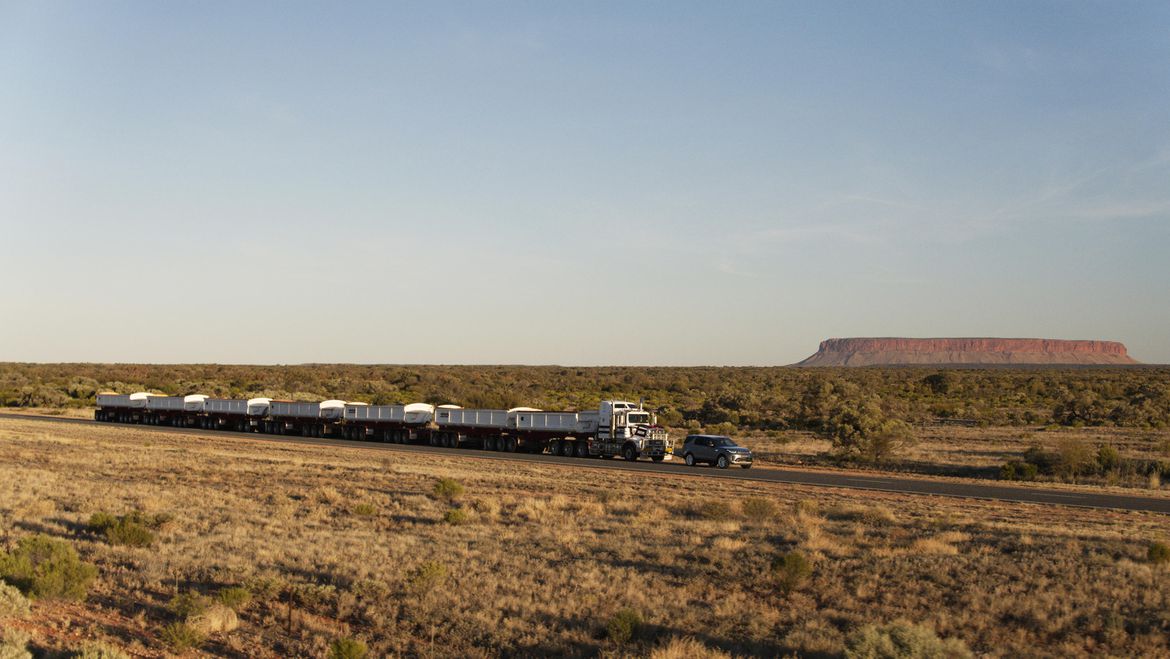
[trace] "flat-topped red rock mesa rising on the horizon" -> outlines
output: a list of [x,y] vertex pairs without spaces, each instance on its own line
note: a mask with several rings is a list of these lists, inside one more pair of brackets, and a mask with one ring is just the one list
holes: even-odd
[[1115,341],[1059,338],[830,338],[797,366],[1123,365],[1137,364]]

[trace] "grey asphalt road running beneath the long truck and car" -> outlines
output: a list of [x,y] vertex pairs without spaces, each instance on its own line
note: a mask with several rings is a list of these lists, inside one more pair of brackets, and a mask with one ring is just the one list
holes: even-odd
[[[98,423],[89,419],[71,419],[68,417],[41,417],[36,414],[4,414],[4,417],[19,418],[51,424],[74,425],[101,425],[117,426],[119,424]],[[734,479],[743,481],[760,481],[777,483],[798,483],[818,487],[838,487],[860,490],[896,492],[902,494],[921,494],[928,496],[952,496],[959,499],[985,499],[992,501],[1011,501],[1019,503],[1046,503],[1053,506],[1078,506],[1085,508],[1109,508],[1117,510],[1140,510],[1147,513],[1170,514],[1170,499],[1158,499],[1152,496],[1137,496],[1127,494],[1106,494],[1073,489],[1055,489],[1041,487],[1011,487],[1000,485],[971,483],[966,481],[950,481],[941,479],[909,479],[899,476],[886,476],[868,472],[830,472],[813,469],[782,469],[782,468],[753,468],[741,469],[716,469],[714,467],[687,467],[681,461],[672,462],[626,462],[625,460],[600,460],[587,458],[560,458],[552,455],[539,455],[531,453],[496,453],[487,451],[474,451],[467,448],[439,448],[434,446],[377,444],[369,441],[352,441],[343,439],[312,439],[300,437],[284,437],[254,433],[234,433],[222,431],[206,431],[198,428],[172,428],[157,426],[131,425],[139,430],[154,430],[167,433],[183,433],[192,435],[230,437],[256,439],[273,442],[319,445],[330,447],[352,447],[374,451],[390,451],[395,453],[418,454],[441,454],[456,455],[462,458],[475,458],[480,460],[508,460],[514,462],[539,462],[542,465],[566,465],[591,469],[621,469],[626,472],[646,472],[652,474],[670,474],[676,476],[691,478],[716,478]],[[420,455],[420,459],[422,457]]]

